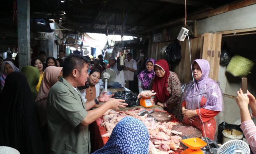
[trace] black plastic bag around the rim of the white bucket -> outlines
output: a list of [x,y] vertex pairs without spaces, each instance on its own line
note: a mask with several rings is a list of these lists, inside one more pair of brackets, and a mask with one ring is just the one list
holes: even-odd
[[[241,132],[242,129],[240,128],[241,125],[233,125],[233,124],[228,124],[226,122],[222,122],[219,126],[218,126],[218,136],[217,136],[217,142],[220,143],[220,144],[223,144],[222,143],[222,138],[223,138],[223,135],[222,135],[222,131],[226,128],[228,129],[236,129],[236,130],[239,130]],[[244,133],[243,133],[243,136],[244,136]],[[244,136],[245,137],[245,136]]]

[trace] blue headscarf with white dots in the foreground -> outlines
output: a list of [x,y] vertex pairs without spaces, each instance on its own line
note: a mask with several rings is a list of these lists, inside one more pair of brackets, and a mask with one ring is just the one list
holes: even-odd
[[108,142],[93,154],[148,154],[148,143],[146,126],[128,116],[115,126]]

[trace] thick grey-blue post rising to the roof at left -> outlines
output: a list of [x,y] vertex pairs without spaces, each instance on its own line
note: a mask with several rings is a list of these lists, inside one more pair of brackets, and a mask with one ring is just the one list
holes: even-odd
[[30,65],[30,0],[17,1],[19,68]]

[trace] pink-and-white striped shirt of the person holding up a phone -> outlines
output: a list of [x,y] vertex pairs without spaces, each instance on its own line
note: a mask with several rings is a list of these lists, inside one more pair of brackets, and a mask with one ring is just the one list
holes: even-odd
[[[256,116],[253,116],[256,117]],[[251,146],[251,150],[256,154],[256,126],[252,120],[244,121],[240,128],[245,134],[247,143]]]

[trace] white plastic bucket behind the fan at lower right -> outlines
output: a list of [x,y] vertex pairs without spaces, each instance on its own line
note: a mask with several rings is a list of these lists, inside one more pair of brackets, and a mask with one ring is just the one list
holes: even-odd
[[225,143],[230,140],[238,139],[242,140],[243,139],[243,133],[239,130],[236,129],[224,129],[222,131],[222,143]]

